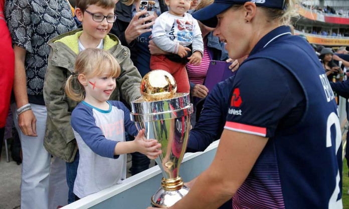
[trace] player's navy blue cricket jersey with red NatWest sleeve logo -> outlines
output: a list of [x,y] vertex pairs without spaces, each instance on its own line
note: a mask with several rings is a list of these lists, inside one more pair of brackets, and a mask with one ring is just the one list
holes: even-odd
[[337,105],[312,47],[288,26],[272,30],[231,95],[225,128],[269,137],[233,208],[342,208]]

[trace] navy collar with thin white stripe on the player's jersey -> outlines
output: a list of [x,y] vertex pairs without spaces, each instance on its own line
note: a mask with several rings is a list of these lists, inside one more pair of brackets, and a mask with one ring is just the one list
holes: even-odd
[[252,54],[257,53],[259,50],[266,47],[271,42],[273,42],[275,39],[277,39],[278,37],[283,36],[283,35],[292,35],[291,28],[289,26],[282,25],[282,26],[276,27],[272,31],[268,32],[266,35],[264,35],[257,42],[257,44],[253,47],[253,49],[249,55],[251,56]]

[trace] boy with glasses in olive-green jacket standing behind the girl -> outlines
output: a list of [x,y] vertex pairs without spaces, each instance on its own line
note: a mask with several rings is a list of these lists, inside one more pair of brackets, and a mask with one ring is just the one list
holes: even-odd
[[48,111],[44,146],[50,153],[67,162],[68,203],[74,201],[73,186],[79,164],[79,151],[70,125],[71,112],[78,102],[66,96],[64,84],[73,72],[77,54],[90,47],[107,50],[121,67],[120,76],[116,79],[117,87],[110,99],[119,100],[122,94],[130,102],[140,96],[141,76],[130,59],[129,49],[121,45],[115,35],[108,34],[116,20],[114,7],[114,0],[77,1],[75,13],[83,29],[59,35],[48,42],[51,51],[44,82],[44,99]]

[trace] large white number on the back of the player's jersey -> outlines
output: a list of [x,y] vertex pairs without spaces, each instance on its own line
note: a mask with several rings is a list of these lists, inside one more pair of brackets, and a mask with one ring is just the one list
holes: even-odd
[[[338,116],[334,112],[331,112],[327,118],[326,147],[332,146],[331,129],[330,128],[333,124],[335,126],[335,132],[336,132],[335,133],[335,152],[336,152],[335,154],[337,154],[340,143],[341,143],[340,124],[339,124]],[[337,200],[338,194],[340,192],[339,180],[340,180],[340,176],[339,176],[339,169],[338,169],[337,176],[335,178],[334,191],[333,191],[331,197],[329,198],[328,209],[343,208],[342,200],[341,199]]]

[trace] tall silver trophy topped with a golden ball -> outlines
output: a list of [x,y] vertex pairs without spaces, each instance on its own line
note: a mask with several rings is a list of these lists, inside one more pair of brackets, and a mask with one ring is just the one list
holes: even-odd
[[172,206],[189,191],[179,170],[187,149],[193,104],[189,93],[176,93],[176,90],[171,74],[152,70],[140,83],[142,98],[131,102],[131,119],[137,129],[144,128],[147,139],[154,138],[161,143],[162,154],[155,161],[163,178],[161,187],[151,197],[154,207]]

